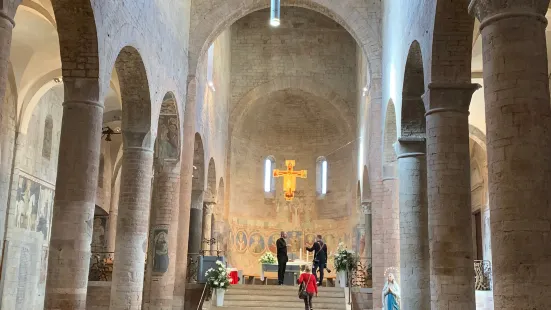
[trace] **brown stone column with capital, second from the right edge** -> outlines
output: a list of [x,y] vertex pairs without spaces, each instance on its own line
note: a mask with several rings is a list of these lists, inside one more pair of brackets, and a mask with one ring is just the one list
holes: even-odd
[[431,309],[475,309],[468,116],[478,87],[431,83],[423,95]]

